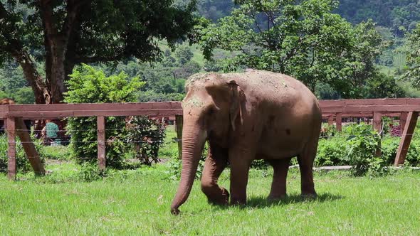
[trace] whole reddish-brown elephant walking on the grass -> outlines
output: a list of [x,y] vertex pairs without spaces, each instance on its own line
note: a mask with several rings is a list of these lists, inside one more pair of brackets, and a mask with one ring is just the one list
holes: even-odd
[[172,214],[177,215],[189,197],[206,141],[209,154],[201,191],[209,203],[229,204],[229,192],[217,184],[229,162],[230,203],[246,204],[248,171],[254,159],[265,159],[273,166],[268,198],[284,198],[294,156],[298,157],[302,195],[316,196],[313,162],[322,113],[317,98],[302,82],[280,73],[246,70],[191,75],[185,89],[182,171]]

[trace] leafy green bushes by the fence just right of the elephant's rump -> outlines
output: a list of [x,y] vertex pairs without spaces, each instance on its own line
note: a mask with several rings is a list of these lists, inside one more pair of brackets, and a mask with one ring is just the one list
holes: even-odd
[[[315,166],[350,165],[355,176],[368,174],[375,177],[388,173],[387,166],[394,163],[399,144],[395,141],[399,139],[397,137],[388,137],[382,142],[381,136],[367,124],[349,124],[342,132],[334,132],[330,127],[324,129],[327,139],[318,142]],[[329,129],[334,136],[327,135]],[[375,156],[379,144],[383,152],[381,157]]]

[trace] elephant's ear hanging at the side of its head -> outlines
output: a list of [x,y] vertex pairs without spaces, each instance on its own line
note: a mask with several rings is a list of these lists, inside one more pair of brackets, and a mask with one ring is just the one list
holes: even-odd
[[235,122],[238,116],[241,124],[243,124],[241,103],[243,102],[245,95],[235,80],[229,81],[228,85],[231,90],[231,108],[229,110],[229,118],[231,119],[232,129],[235,130]]

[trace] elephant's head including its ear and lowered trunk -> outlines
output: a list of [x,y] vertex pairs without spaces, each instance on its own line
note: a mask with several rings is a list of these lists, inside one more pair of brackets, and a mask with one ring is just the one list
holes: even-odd
[[179,206],[189,196],[206,139],[211,136],[222,145],[227,144],[229,132],[242,122],[244,95],[235,80],[216,74],[194,75],[187,82],[186,91],[182,101],[182,172],[171,206],[174,214],[179,213]]

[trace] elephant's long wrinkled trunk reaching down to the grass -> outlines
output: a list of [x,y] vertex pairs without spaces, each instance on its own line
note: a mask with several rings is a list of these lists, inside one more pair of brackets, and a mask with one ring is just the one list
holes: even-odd
[[206,131],[197,122],[184,123],[184,129],[182,129],[181,181],[171,205],[171,213],[174,215],[179,213],[179,206],[187,200],[191,192],[206,136]]

